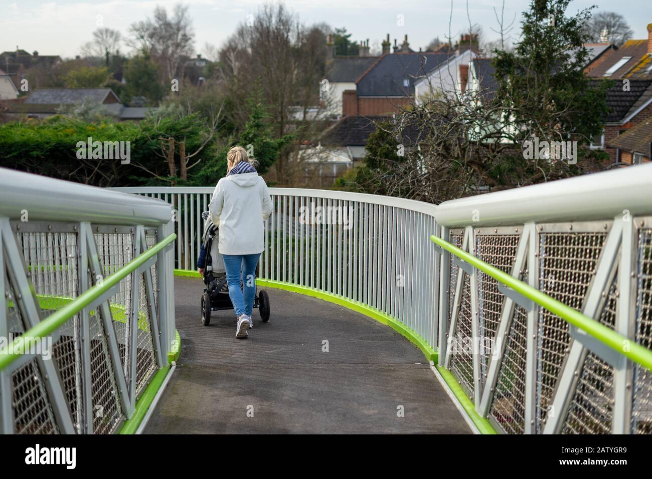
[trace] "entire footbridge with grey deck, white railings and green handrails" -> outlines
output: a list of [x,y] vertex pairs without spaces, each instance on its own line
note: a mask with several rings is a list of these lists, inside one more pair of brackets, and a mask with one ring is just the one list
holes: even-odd
[[651,185],[271,188],[271,320],[237,341],[200,323],[212,186],[0,169],[0,430],[651,433]]

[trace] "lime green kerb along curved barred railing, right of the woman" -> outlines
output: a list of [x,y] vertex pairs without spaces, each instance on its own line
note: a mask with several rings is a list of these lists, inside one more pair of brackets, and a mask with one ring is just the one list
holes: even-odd
[[263,280],[261,278],[256,278],[256,284],[258,284],[259,286],[267,286],[267,287],[273,287],[278,289],[284,289],[286,291],[293,291],[294,293],[301,293],[302,295],[308,295],[315,298],[323,299],[325,301],[333,302],[335,304],[339,304],[340,306],[344,306],[345,308],[349,308],[349,310],[363,313],[364,315],[376,319],[376,321],[379,321],[379,323],[383,323],[383,325],[387,325],[391,327],[394,331],[402,334],[402,336],[404,336],[407,340],[411,341],[411,343],[413,343],[415,346],[421,349],[421,352],[426,356],[426,358],[429,361],[437,362],[437,351],[434,351],[434,349],[432,349],[432,347],[428,345],[427,341],[424,340],[424,338],[422,338],[421,336],[419,336],[417,332],[415,332],[411,328],[406,327],[402,323],[396,321],[396,319],[394,319],[390,315],[387,315],[379,310],[376,310],[375,308],[370,308],[369,306],[366,306],[366,304],[362,304],[360,302],[353,301],[348,298],[334,295],[333,293],[325,293],[324,291],[319,291],[318,289],[314,289],[311,287],[297,286],[289,283],[284,283],[281,281]]

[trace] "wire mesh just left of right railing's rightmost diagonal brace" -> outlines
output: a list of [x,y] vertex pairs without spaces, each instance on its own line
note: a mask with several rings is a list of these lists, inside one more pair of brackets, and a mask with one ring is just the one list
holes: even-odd
[[[542,232],[539,235],[539,290],[576,310],[582,309],[606,231]],[[552,403],[559,370],[571,340],[569,323],[539,309],[537,334],[537,433]]]

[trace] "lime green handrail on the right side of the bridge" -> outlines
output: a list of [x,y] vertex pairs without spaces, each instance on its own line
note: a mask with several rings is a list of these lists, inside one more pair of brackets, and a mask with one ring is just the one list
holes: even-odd
[[564,321],[567,321],[567,323],[571,323],[571,325],[584,330],[587,332],[587,334],[590,334],[593,336],[593,338],[596,338],[600,342],[608,345],[610,348],[614,349],[621,355],[627,356],[632,361],[652,371],[652,351],[646,347],[635,343],[632,340],[629,340],[622,334],[619,334],[618,332],[615,332],[614,330],[600,324],[598,321],[595,321],[595,319],[588,317],[578,310],[574,310],[570,306],[563,304],[563,302],[546,295],[546,293],[542,293],[538,289],[531,287],[529,284],[517,280],[511,276],[511,274],[507,274],[506,272],[494,268],[492,265],[485,263],[481,259],[478,259],[466,251],[460,250],[460,248],[454,246],[454,244],[451,244],[446,240],[443,240],[435,235],[432,235],[430,240],[451,254],[454,254],[458,258],[463,259],[469,263],[469,265],[476,267],[495,280],[498,280],[499,282],[511,287],[514,289],[514,291],[518,291],[518,293],[524,295],[524,297],[533,300],[542,308],[545,308],[551,313],[561,317],[561,319]]

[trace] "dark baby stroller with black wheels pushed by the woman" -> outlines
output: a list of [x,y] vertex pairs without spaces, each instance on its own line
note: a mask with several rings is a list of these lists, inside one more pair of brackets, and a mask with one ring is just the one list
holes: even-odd
[[[213,224],[213,220],[204,212],[205,218],[203,235],[201,237],[206,252],[203,282],[206,287],[201,295],[201,324],[208,326],[211,324],[211,311],[232,310],[233,304],[229,297],[229,287],[226,284],[226,268],[224,259],[218,252],[218,227]],[[256,277],[258,277],[258,268],[256,268]],[[264,323],[269,321],[269,296],[267,291],[256,291],[254,296],[254,308],[258,308],[260,319]]]

